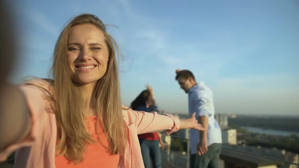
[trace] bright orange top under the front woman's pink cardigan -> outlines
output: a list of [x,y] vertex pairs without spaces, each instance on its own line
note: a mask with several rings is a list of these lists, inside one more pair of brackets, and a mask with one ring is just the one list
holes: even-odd
[[86,152],[84,153],[84,160],[79,164],[68,163],[64,155],[56,156],[55,165],[56,168],[68,168],[68,167],[118,167],[118,162],[120,155],[110,155],[105,147],[108,147],[108,141],[105,137],[104,131],[99,126],[99,137],[101,139],[102,145],[96,135],[96,120],[97,116],[88,117],[86,119],[86,125],[89,133],[92,135],[96,142],[94,144],[88,144],[86,147]]

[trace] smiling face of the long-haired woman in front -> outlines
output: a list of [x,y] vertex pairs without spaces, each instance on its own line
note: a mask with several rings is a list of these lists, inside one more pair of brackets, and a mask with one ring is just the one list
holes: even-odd
[[79,85],[94,83],[107,70],[108,48],[101,30],[92,24],[73,26],[67,43],[71,77]]

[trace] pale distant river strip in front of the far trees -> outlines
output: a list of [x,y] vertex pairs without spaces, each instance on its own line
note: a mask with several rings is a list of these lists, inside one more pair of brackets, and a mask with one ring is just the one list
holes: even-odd
[[242,127],[242,128],[247,129],[252,133],[259,133],[259,134],[280,135],[280,136],[289,136],[292,134],[296,134],[297,136],[299,136],[298,132],[291,132],[291,131],[266,130],[266,129],[260,129],[256,127]]

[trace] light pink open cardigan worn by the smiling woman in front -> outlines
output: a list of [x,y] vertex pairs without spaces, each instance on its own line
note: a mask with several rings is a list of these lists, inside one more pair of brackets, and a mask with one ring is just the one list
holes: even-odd
[[[39,79],[30,80],[45,87],[49,84]],[[32,118],[30,134],[20,143],[0,150],[0,161],[17,150],[15,167],[55,167],[56,118],[49,110],[49,102],[43,92],[34,86],[20,86],[25,94]],[[179,119],[172,115],[159,115],[134,111],[123,106],[124,125],[127,132],[127,146],[124,155],[120,155],[118,167],[144,167],[138,134],[167,130],[171,134],[179,129]],[[126,110],[128,109],[128,110]],[[100,166],[100,165],[99,165]]]

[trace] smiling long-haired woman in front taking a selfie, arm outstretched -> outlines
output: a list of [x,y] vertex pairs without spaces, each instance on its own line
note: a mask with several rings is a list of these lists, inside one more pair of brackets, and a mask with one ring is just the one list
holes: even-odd
[[54,49],[54,80],[2,88],[9,96],[0,99],[0,161],[17,150],[15,167],[144,167],[137,134],[204,130],[194,116],[179,120],[122,106],[117,56],[98,17],[70,20]]

